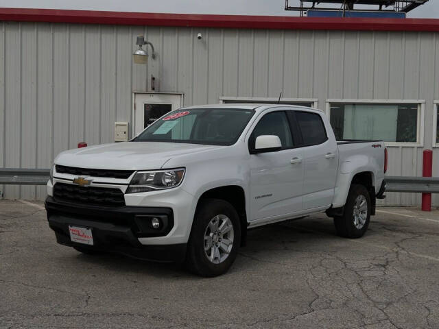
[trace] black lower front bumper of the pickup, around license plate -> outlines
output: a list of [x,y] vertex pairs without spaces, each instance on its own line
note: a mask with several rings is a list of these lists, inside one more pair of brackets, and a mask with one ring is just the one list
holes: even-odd
[[[169,234],[174,227],[171,208],[84,206],[56,202],[53,197],[47,197],[45,206],[49,227],[62,245],[114,252],[145,260],[180,263],[185,259],[186,243],[143,245],[139,242],[139,238]],[[161,219],[159,230],[149,225],[153,217]],[[94,245],[72,242],[69,225],[91,228]]]

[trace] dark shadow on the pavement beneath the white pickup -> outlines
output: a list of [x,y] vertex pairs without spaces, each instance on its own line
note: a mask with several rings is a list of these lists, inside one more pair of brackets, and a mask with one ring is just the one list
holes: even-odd
[[[240,270],[241,263],[246,263],[246,269],[258,267],[258,262],[248,264],[245,261],[246,259],[254,258],[255,254],[263,253],[266,258],[272,258],[273,263],[276,263],[276,259],[278,260],[279,258],[278,252],[281,251],[283,252],[283,257],[294,261],[294,257],[298,256],[300,252],[309,253],[311,249],[324,249],[329,241],[343,240],[335,235],[331,219],[326,221],[303,219],[301,222],[307,225],[302,227],[298,221],[291,221],[288,223],[274,223],[270,226],[249,230],[246,245],[240,247],[235,265],[233,265],[229,273]],[[287,253],[288,251],[290,252],[289,254]],[[117,271],[118,273],[147,273],[150,276],[168,279],[180,277],[198,278],[189,273],[183,264],[157,263],[130,258],[121,254],[100,254],[99,256],[78,254],[77,259],[88,266],[105,267],[110,271]]]

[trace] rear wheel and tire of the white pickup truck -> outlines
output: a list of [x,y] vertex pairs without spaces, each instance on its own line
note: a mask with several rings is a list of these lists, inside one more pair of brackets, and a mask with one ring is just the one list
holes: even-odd
[[370,210],[370,195],[366,187],[352,184],[344,206],[344,214],[334,217],[337,234],[350,239],[361,238],[368,230]]

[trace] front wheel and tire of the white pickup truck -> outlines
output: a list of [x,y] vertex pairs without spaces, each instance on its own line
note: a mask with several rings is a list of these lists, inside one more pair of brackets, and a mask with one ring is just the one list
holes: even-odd
[[202,200],[187,247],[188,269],[199,276],[220,276],[232,266],[241,243],[235,208],[221,199]]

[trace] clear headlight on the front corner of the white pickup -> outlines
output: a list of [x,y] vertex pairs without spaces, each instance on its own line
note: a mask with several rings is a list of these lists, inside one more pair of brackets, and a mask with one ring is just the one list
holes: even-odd
[[185,169],[166,169],[156,171],[137,171],[126,193],[141,193],[173,188],[183,180]]

